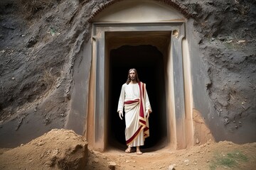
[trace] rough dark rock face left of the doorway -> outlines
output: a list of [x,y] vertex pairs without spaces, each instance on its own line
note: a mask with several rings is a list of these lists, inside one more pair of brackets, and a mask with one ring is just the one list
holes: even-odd
[[[63,3],[37,1],[33,8],[11,2],[1,5],[1,124],[10,120],[12,124],[1,130],[18,132],[24,123],[38,126],[33,137],[25,130],[25,138],[19,142],[65,125],[73,47],[79,35],[79,28],[71,29],[68,22],[79,4]],[[4,147],[17,146],[15,141],[18,139],[13,145],[4,142]]]

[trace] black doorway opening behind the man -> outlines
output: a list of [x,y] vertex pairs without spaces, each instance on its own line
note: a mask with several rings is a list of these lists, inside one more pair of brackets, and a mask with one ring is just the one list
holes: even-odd
[[152,45],[123,45],[110,50],[107,146],[126,148],[125,121],[119,119],[117,104],[122,84],[127,80],[131,68],[137,69],[140,81],[146,83],[153,113],[149,118],[150,136],[145,140],[144,149],[154,151],[166,146],[167,137],[164,56]]

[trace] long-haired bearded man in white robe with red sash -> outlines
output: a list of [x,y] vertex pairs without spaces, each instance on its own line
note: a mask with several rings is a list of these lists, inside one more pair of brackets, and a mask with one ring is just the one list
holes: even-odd
[[139,146],[144,145],[144,140],[149,137],[149,113],[151,106],[146,93],[146,84],[139,81],[136,69],[130,69],[127,82],[122,85],[117,112],[123,117],[125,112],[125,138],[127,149],[130,153],[132,147],[137,147],[137,154],[142,154]]

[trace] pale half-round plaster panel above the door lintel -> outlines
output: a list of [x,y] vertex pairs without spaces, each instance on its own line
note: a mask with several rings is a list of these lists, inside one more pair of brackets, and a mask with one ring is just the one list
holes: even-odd
[[156,1],[120,1],[99,13],[92,22],[150,23],[183,21],[176,9]]

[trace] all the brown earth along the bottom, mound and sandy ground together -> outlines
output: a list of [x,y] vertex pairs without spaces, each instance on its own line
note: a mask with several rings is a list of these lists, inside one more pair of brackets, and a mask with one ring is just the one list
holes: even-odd
[[[143,151],[143,150],[142,150]],[[73,130],[51,130],[14,149],[1,149],[0,169],[246,169],[256,168],[256,143],[211,142],[191,149],[125,154],[87,149]],[[113,166],[110,166],[113,165]]]

